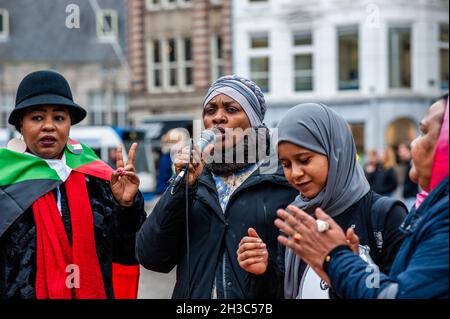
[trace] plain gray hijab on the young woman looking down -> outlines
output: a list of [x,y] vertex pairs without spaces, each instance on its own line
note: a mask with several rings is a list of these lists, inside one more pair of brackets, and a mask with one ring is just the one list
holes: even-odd
[[[305,103],[290,109],[278,124],[278,144],[290,142],[328,158],[328,178],[314,198],[301,194],[294,205],[309,214],[317,207],[336,217],[370,190],[364,171],[356,161],[356,147],[344,118],[323,104]],[[300,288],[300,259],[286,248],[285,298],[297,298]]]

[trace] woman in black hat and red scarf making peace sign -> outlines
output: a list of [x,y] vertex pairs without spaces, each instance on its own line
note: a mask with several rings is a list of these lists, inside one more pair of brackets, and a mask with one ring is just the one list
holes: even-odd
[[113,262],[137,264],[137,145],[112,171],[69,138],[85,116],[54,71],[19,85],[8,122],[23,139],[0,149],[0,298],[113,298]]

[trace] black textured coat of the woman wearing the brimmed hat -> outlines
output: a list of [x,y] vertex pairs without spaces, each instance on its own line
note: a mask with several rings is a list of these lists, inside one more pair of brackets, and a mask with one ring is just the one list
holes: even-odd
[[[107,298],[114,298],[112,263],[137,264],[136,232],[146,218],[141,193],[133,206],[122,207],[114,199],[109,182],[89,176],[86,186],[94,217],[97,256]],[[64,220],[67,230],[67,220]],[[69,220],[70,222],[70,220]],[[70,239],[70,233],[68,234]],[[0,238],[0,299],[34,299],[36,280],[36,225],[27,209]]]

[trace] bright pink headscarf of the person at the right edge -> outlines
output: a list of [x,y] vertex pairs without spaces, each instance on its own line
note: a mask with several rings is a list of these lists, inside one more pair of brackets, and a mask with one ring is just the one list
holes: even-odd
[[[433,168],[431,170],[430,192],[448,176],[448,98],[445,106],[444,120],[442,121],[441,131],[436,144],[434,153]],[[417,194],[415,207],[419,208],[420,204],[428,196],[426,191]]]

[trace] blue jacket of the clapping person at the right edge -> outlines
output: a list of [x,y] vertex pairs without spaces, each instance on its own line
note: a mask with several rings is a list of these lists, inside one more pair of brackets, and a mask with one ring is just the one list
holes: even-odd
[[332,286],[344,298],[449,298],[449,198],[446,177],[401,225],[405,240],[389,275],[349,250],[330,261]]

